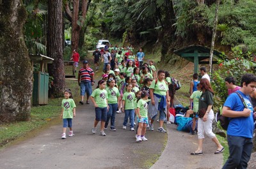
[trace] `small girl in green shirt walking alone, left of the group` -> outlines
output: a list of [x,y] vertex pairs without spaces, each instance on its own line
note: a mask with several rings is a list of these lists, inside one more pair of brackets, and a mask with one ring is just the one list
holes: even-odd
[[69,128],[68,136],[74,136],[72,130],[72,119],[76,117],[76,104],[72,99],[72,92],[70,90],[64,91],[64,98],[61,103],[61,117],[63,119],[63,134],[61,135],[62,139],[66,138],[66,130]]

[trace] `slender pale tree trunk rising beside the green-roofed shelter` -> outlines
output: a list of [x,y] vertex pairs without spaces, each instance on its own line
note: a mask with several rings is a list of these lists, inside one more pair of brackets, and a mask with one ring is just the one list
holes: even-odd
[[216,10],[215,10],[215,18],[214,18],[214,26],[212,29],[212,42],[211,42],[211,50],[210,50],[210,58],[209,58],[209,71],[210,75],[212,74],[212,57],[213,57],[213,51],[214,51],[214,43],[216,38],[216,29],[218,25],[218,11],[220,6],[220,0],[216,1]]

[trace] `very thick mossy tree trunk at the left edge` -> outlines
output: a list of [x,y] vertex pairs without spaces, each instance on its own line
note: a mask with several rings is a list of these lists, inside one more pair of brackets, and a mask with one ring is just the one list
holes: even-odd
[[27,18],[22,0],[0,1],[0,122],[30,116],[32,67],[24,42]]

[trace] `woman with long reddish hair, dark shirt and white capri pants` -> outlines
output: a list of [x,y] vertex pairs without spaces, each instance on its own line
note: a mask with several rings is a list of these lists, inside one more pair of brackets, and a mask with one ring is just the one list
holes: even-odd
[[220,154],[224,151],[224,147],[220,144],[218,138],[212,133],[212,121],[214,119],[214,114],[212,111],[213,105],[213,90],[211,84],[207,78],[202,78],[200,80],[200,90],[202,95],[199,99],[198,106],[198,148],[195,152],[192,152],[191,155],[202,155],[203,139],[204,133],[212,139],[217,145],[217,151],[214,154]]

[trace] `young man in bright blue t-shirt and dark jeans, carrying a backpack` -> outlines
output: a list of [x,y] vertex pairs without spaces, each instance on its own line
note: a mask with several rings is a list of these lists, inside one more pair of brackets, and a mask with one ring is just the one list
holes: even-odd
[[250,160],[253,143],[253,107],[249,96],[256,87],[256,76],[246,73],[241,79],[241,89],[237,91],[247,108],[244,106],[239,94],[232,93],[228,96],[223,106],[222,114],[230,117],[227,129],[229,157],[223,168],[247,168]]

